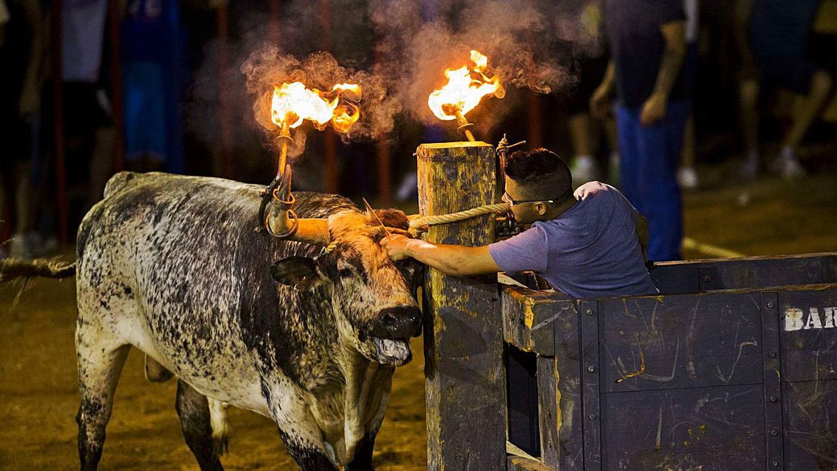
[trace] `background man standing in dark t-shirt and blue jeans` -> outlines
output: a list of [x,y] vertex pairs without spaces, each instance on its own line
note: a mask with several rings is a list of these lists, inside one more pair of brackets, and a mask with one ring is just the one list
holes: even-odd
[[616,91],[620,184],[648,217],[648,256],[680,259],[683,217],[675,171],[689,101],[680,66],[686,54],[682,0],[607,0],[611,60],[593,93],[593,114],[607,114]]

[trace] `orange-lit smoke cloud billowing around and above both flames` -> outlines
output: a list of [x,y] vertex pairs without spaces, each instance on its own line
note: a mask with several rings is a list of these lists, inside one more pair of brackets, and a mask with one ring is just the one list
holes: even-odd
[[[265,96],[274,85],[298,80],[327,90],[348,82],[362,86],[361,118],[341,138],[380,140],[392,134],[399,115],[439,123],[427,105],[429,93],[444,85],[445,69],[470,64],[470,49],[488,56],[489,72],[499,75],[507,90],[568,93],[577,81],[578,58],[601,52],[599,3],[293,0],[281,3],[273,23],[277,17],[264,11],[239,12],[231,20],[232,39],[204,49],[187,126],[218,145],[219,116],[225,114],[234,127],[228,132],[234,148],[252,142],[255,130],[273,147],[279,130],[270,122]],[[480,127],[496,123],[515,106],[516,96],[521,94],[485,98],[496,103],[474,111],[483,121]],[[306,122],[292,130],[291,157],[303,152],[312,129]]]

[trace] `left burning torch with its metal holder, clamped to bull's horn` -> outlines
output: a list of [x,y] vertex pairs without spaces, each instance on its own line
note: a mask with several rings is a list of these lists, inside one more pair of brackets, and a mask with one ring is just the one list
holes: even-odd
[[[296,230],[296,215],[291,209],[294,204],[294,196],[290,193],[291,172],[287,164],[288,146],[294,142],[290,130],[308,120],[320,131],[331,124],[336,132],[348,132],[360,118],[360,107],[356,104],[360,99],[361,87],[354,84],[337,84],[331,87],[331,91],[308,89],[302,82],[275,85],[270,101],[270,120],[280,130],[276,138],[279,142],[279,162],[276,177],[264,190],[259,209],[259,220],[270,234],[286,237]],[[271,230],[270,225],[264,222],[264,210],[270,201],[274,210],[286,211],[290,216],[291,227],[281,233]]]

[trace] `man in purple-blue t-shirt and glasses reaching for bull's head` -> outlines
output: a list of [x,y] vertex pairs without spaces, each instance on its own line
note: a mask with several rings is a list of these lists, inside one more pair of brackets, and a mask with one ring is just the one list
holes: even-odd
[[503,200],[531,229],[481,247],[403,235],[381,245],[393,260],[413,257],[449,275],[537,272],[573,298],[657,292],[644,265],[648,227],[619,191],[590,182],[573,194],[569,168],[547,149],[512,153],[505,170]]

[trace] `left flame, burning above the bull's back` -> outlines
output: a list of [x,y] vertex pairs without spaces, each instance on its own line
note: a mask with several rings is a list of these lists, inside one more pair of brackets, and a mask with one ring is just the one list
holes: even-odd
[[307,119],[321,131],[331,122],[336,132],[348,132],[361,114],[360,107],[352,101],[341,101],[343,94],[349,100],[359,101],[361,87],[343,83],[334,85],[331,91],[319,91],[307,89],[302,82],[283,83],[274,87],[270,121],[279,127],[298,127]]

